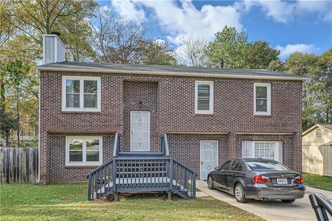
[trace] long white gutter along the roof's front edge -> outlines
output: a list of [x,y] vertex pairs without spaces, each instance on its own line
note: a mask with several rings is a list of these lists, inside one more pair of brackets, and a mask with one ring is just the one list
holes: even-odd
[[241,79],[277,79],[277,80],[306,80],[306,77],[291,77],[288,76],[256,76],[256,75],[241,75],[241,74],[211,74],[211,73],[183,73],[183,72],[166,72],[166,71],[151,71],[151,70],[118,70],[112,68],[60,68],[60,67],[35,67],[37,70],[56,70],[56,71],[70,71],[70,72],[92,72],[92,73],[126,73],[139,75],[172,75],[185,77],[225,77],[225,78],[241,78]]

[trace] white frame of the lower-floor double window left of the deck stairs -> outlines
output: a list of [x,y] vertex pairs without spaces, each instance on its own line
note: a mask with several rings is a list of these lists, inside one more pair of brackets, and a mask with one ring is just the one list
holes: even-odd
[[[82,140],[82,162],[69,162],[69,140]],[[86,162],[86,140],[99,140],[99,162]],[[66,166],[100,166],[102,164],[102,137],[66,136]]]

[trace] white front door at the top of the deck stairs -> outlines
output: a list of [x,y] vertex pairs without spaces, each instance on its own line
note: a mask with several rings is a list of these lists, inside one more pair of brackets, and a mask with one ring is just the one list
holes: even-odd
[[150,112],[130,112],[130,151],[150,151]]

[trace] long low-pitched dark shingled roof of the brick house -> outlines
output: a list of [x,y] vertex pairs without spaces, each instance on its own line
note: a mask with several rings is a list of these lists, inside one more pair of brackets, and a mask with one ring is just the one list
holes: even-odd
[[102,64],[64,61],[35,67],[37,70],[59,70],[95,73],[133,73],[140,75],[180,75],[192,77],[228,77],[246,79],[284,79],[301,81],[306,77],[259,69],[226,69],[166,65]]

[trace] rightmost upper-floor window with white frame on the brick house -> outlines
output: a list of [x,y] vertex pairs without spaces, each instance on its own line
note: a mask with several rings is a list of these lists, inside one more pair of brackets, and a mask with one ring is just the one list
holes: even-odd
[[254,115],[270,115],[271,84],[254,83]]

